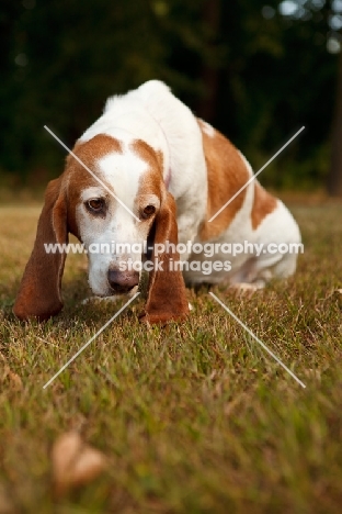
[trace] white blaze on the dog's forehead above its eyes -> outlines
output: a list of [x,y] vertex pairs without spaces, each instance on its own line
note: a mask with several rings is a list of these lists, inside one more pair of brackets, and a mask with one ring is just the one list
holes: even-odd
[[148,169],[148,164],[130,150],[123,154],[109,154],[98,160],[98,169],[113,192],[125,205],[134,210],[139,189],[139,180]]

